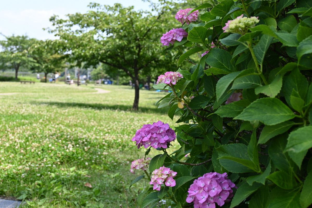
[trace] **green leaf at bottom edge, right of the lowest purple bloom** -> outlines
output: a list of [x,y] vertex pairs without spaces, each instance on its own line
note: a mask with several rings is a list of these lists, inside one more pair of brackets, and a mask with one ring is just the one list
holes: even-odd
[[237,189],[237,191],[233,197],[230,208],[239,205],[249,195],[251,195],[253,192],[257,191],[257,189],[260,188],[261,185],[262,185],[261,183],[254,183],[252,186],[250,186],[248,183],[241,185]]

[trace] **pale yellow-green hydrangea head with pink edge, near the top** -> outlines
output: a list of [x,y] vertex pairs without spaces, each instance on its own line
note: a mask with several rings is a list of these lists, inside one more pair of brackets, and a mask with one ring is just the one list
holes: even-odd
[[243,17],[243,14],[234,20],[229,20],[222,28],[224,32],[239,33],[244,35],[249,28],[255,27],[259,22],[258,17]]

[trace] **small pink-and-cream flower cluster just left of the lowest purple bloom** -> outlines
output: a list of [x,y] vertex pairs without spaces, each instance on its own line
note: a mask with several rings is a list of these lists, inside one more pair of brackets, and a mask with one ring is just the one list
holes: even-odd
[[152,172],[151,182],[153,190],[160,191],[161,185],[165,182],[166,186],[175,186],[175,180],[173,179],[177,175],[177,172],[170,170],[168,167],[160,167]]

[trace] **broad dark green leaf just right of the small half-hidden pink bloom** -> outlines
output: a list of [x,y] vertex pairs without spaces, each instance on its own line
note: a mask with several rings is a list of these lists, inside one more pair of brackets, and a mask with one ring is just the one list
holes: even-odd
[[214,48],[209,52],[209,55],[206,58],[206,63],[212,67],[227,71],[234,71],[234,66],[231,63],[231,59],[232,56],[229,52]]

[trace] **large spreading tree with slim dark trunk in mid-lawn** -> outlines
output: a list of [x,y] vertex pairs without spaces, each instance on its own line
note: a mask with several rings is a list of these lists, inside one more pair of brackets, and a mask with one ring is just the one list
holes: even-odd
[[[165,14],[170,11],[168,4],[160,9],[155,5],[157,15],[146,11],[134,11],[133,7],[100,6],[92,3],[86,14],[71,14],[67,20],[51,17],[50,21],[61,40],[66,41],[71,58],[88,65],[99,62],[123,70],[135,84],[133,109],[139,106],[139,73],[175,67],[171,62],[159,61],[161,44],[159,38],[166,32],[163,23],[168,23]],[[80,29],[72,30],[73,26]],[[168,64],[168,65],[166,65]],[[157,67],[155,67],[157,65]]]

